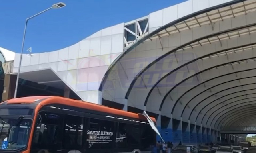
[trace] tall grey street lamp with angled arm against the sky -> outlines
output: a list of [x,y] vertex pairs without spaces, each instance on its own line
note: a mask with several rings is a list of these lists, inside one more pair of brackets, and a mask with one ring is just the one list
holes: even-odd
[[56,3],[56,4],[53,4],[52,7],[46,9],[46,10],[43,10],[42,12],[39,12],[38,14],[35,14],[34,16],[31,16],[29,18],[26,19],[26,22],[25,22],[25,29],[24,29],[24,34],[23,34],[23,40],[22,40],[22,47],[21,47],[21,53],[20,53],[20,61],[19,61],[19,67],[18,67],[18,73],[17,73],[17,79],[16,79],[16,86],[15,86],[15,92],[14,92],[14,98],[17,97],[17,90],[18,90],[18,84],[19,84],[19,77],[20,77],[20,67],[21,67],[21,61],[22,61],[22,54],[23,54],[23,48],[24,48],[24,41],[25,41],[25,36],[26,36],[26,29],[27,29],[27,24],[28,24],[28,20],[54,8],[54,9],[58,9],[58,8],[63,8],[65,7],[66,4],[64,4],[63,2],[59,2],[59,3]]

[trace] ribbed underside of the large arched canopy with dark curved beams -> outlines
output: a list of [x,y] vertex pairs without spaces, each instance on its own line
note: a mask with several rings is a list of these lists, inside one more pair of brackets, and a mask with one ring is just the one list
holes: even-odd
[[229,0],[140,37],[110,65],[102,97],[210,129],[255,125],[255,16],[256,0]]

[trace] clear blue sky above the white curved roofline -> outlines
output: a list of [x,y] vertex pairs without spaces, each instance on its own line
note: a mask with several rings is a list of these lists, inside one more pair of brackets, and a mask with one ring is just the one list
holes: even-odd
[[[48,52],[68,47],[91,34],[186,0],[62,0],[28,22],[24,51]],[[0,0],[0,47],[20,53],[25,19],[60,0]]]

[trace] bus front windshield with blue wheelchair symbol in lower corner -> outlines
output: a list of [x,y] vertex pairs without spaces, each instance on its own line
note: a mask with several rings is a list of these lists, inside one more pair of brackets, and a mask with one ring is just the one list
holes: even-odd
[[31,122],[31,119],[1,118],[0,149],[17,150],[26,147]]

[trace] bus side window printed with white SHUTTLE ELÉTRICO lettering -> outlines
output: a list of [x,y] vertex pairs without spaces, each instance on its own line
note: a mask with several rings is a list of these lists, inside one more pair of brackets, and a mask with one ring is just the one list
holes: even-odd
[[114,141],[115,122],[90,118],[90,125],[87,130],[89,149],[112,149]]

